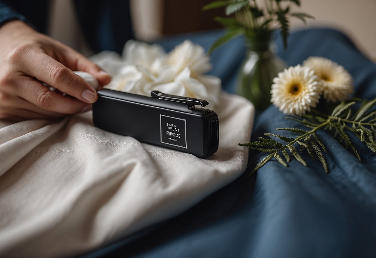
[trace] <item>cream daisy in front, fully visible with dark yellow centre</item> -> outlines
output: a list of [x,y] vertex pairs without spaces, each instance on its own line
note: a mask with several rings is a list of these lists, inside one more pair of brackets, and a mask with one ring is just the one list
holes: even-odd
[[288,115],[302,115],[316,107],[321,88],[314,71],[297,65],[278,73],[271,85],[271,102]]

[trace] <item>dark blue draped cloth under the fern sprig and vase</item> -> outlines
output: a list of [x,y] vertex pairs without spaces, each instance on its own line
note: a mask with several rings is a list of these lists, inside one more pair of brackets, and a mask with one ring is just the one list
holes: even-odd
[[[206,50],[222,32],[164,39],[167,51],[184,39]],[[324,56],[343,65],[353,76],[355,96],[376,98],[376,65],[343,33],[310,29],[291,33],[288,49],[277,37],[278,55],[288,65],[309,56]],[[239,37],[211,56],[210,74],[235,91],[237,70],[245,55]],[[274,106],[256,116],[252,140],[276,127],[299,126]],[[326,132],[330,174],[306,158],[303,167],[270,161],[250,178],[247,173],[264,156],[250,151],[247,171],[180,216],[145,229],[85,257],[376,257],[376,154],[352,138],[362,161]],[[237,143],[234,143],[237,144]]]

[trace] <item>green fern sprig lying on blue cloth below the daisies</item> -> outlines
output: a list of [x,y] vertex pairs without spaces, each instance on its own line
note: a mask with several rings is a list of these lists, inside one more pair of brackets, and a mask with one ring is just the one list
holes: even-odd
[[[272,158],[276,159],[280,164],[287,166],[290,162],[291,156],[303,165],[307,165],[305,161],[304,152],[313,159],[318,159],[323,166],[325,173],[329,173],[329,167],[326,163],[324,152],[326,148],[323,142],[318,138],[316,132],[324,129],[325,131],[334,134],[339,142],[344,143],[346,149],[350,149],[355,156],[361,160],[358,150],[353,142],[350,140],[349,134],[352,133],[359,139],[359,143],[365,143],[366,146],[372,151],[376,152],[376,99],[364,100],[356,112],[352,115],[352,107],[356,105],[359,100],[352,102],[341,102],[339,105],[329,112],[323,114],[318,111],[312,110],[312,114],[302,117],[286,117],[299,122],[310,130],[301,128],[277,128],[276,130],[287,131],[296,134],[295,138],[287,137],[284,135],[265,133],[265,136],[274,137],[283,141],[280,143],[273,138],[259,137],[261,141],[251,141],[249,143],[240,143],[240,146],[245,146],[250,149],[255,149],[261,152],[266,152],[268,155],[262,158],[256,167],[251,171],[253,172],[261,168]],[[315,115],[313,115],[315,114]],[[351,117],[352,115],[352,117]],[[350,118],[351,117],[351,118]],[[296,147],[300,147],[300,153]],[[289,155],[290,152],[291,156]],[[279,153],[282,153],[280,155]]]

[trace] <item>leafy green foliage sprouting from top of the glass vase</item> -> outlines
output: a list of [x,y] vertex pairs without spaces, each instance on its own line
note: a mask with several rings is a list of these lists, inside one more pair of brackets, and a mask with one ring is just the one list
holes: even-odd
[[[214,18],[214,20],[227,27],[228,33],[226,33],[220,38],[219,41],[216,41],[213,44],[211,51],[233,38],[229,35],[239,35],[243,33],[246,35],[257,36],[258,34],[261,35],[265,33],[265,31],[270,31],[270,26],[271,24],[273,24],[272,21],[276,21],[280,24],[280,33],[284,41],[284,46],[285,48],[287,48],[287,37],[289,34],[288,16],[299,18],[305,24],[307,18],[314,18],[312,15],[306,14],[304,12],[289,13],[290,6],[287,6],[285,8],[281,6],[282,3],[286,5],[288,2],[300,6],[300,0],[267,0],[265,2],[264,9],[260,9],[255,0],[216,1],[204,6],[202,8],[204,11],[225,7],[225,14],[227,16],[234,16],[234,18],[228,19],[220,17]],[[243,30],[240,31],[240,28],[243,28]]]

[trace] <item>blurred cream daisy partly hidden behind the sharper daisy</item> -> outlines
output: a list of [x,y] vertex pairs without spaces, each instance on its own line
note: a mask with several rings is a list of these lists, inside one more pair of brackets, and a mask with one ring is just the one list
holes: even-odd
[[327,101],[342,101],[353,93],[352,77],[342,65],[318,56],[311,56],[303,65],[315,71]]

